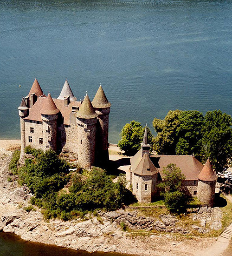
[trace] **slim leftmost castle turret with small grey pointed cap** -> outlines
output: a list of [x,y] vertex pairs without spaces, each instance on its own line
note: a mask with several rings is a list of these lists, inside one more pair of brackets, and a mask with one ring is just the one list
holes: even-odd
[[20,158],[22,158],[24,155],[24,149],[25,149],[25,145],[26,145],[24,117],[26,117],[28,114],[28,108],[26,107],[26,102],[25,102],[24,97],[22,98],[21,104],[18,109],[19,109],[19,117],[20,117],[20,134],[21,134]]

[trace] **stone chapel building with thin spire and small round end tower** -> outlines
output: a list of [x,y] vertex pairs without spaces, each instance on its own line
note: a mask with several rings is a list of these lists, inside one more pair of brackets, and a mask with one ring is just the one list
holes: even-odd
[[217,176],[209,159],[200,163],[193,155],[152,155],[148,144],[147,126],[142,148],[130,159],[130,185],[139,202],[150,203],[159,196],[157,184],[164,179],[162,170],[170,163],[180,168],[186,179],[183,186],[191,195],[213,206]]

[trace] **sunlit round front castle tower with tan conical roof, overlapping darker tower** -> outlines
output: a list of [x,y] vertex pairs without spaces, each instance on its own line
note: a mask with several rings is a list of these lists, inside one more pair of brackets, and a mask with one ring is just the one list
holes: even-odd
[[78,161],[85,168],[95,163],[97,113],[88,94],[77,112]]

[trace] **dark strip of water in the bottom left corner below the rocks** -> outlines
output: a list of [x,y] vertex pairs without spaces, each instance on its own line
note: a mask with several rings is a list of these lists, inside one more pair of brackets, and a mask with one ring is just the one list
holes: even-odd
[[18,236],[0,233],[0,256],[129,256],[119,253],[89,253],[42,243],[25,242]]

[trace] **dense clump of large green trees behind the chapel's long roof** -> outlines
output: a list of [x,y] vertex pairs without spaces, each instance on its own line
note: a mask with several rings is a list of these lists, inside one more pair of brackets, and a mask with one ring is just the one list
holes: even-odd
[[196,110],[170,110],[164,120],[155,118],[158,133],[154,150],[161,155],[194,154],[201,162],[207,158],[217,171],[225,167],[232,150],[232,118],[220,110],[204,115]]

